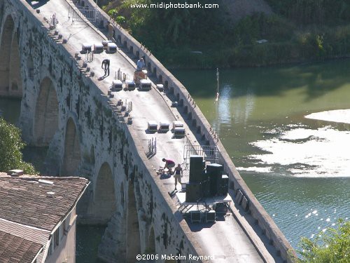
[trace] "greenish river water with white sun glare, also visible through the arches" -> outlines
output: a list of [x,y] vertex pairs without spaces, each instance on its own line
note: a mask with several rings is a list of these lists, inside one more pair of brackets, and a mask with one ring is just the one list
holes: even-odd
[[[221,70],[218,102],[216,70],[173,73],[294,248],[301,236],[313,238],[338,218],[349,220],[350,124],[304,116],[350,108],[350,60]],[[19,109],[18,100],[0,99],[10,122]],[[78,227],[77,262],[94,262],[102,233]]]

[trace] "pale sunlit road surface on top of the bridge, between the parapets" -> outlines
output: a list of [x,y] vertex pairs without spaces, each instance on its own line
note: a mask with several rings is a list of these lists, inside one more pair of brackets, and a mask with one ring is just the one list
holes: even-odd
[[[71,20],[68,19],[69,4],[67,4],[66,0],[47,1],[40,7],[40,11],[41,15],[48,19],[53,13],[56,13],[59,20],[57,30],[63,35],[63,38],[68,39],[65,47],[73,57],[74,53],[78,53],[81,50],[82,43],[101,43],[102,40],[106,39],[102,37],[98,29],[92,25],[87,25],[85,22],[75,22],[74,25],[71,25]],[[85,55],[82,54],[81,58],[85,60]],[[104,75],[104,71],[101,68],[104,58],[111,60],[111,74],[99,81],[98,78]],[[123,52],[118,50],[118,53],[114,54],[106,54],[105,52],[95,54],[94,61],[88,62],[87,67],[90,67],[90,70],[95,72],[93,77],[94,83],[97,83],[102,93],[106,95],[112,85],[116,71],[120,68],[122,72],[132,77],[135,64]],[[163,164],[161,161],[163,157],[182,163],[184,139],[174,139],[170,131],[154,134],[146,132],[148,120],[157,122],[169,121],[172,123],[174,119],[178,119],[185,123],[181,114],[176,109],[169,107],[171,103],[169,97],[165,93],[159,93],[155,88],[150,91],[139,91],[137,89],[133,91],[121,90],[115,94],[114,102],[117,99],[126,99],[133,104],[131,112],[132,129],[137,133],[137,137],[134,140],[144,141],[144,147],[147,149],[148,140],[151,137],[157,137],[157,154],[151,159],[153,167],[158,169]],[[195,136],[188,126],[186,126],[186,133],[191,138],[190,140],[195,142]],[[167,189],[167,191],[174,189],[174,177],[156,180],[156,182],[158,182],[159,187]],[[176,203],[176,198],[173,198],[173,201]],[[210,227],[204,224],[190,223],[189,227],[204,255],[214,256],[214,260],[211,262],[263,262],[251,239],[248,238],[232,215],[228,215],[225,217],[225,220],[217,221]],[[265,251],[264,253],[268,252]]]

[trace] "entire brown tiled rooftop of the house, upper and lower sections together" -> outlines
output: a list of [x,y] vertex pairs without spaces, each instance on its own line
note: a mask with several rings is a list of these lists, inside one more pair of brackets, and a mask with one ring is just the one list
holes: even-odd
[[0,173],[0,262],[43,262],[50,234],[85,191],[81,177]]

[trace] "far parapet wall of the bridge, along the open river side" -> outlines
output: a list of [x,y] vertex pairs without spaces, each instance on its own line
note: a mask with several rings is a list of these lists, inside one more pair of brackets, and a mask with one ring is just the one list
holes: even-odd
[[[80,0],[78,4],[89,6],[90,8],[96,7],[92,0]],[[106,27],[108,22],[111,21],[111,18],[98,7],[97,12],[97,25]],[[225,151],[216,133],[211,129],[207,119],[200,109],[196,107],[195,101],[190,96],[190,93],[188,93],[188,90],[186,90],[183,84],[178,81],[153,54],[146,50],[145,47],[125,31],[123,27],[115,23],[113,23],[113,25],[115,30],[114,37],[118,45],[127,50],[127,55],[129,55],[130,58],[144,58],[148,72],[151,72],[158,80],[158,83],[162,83],[165,86],[167,93],[173,94],[174,97],[176,97],[176,101],[179,102],[179,112],[182,112],[184,119],[188,119],[192,124],[193,130],[197,133],[197,139],[207,145],[218,146],[218,149],[220,149],[220,163],[223,164],[225,173],[230,177],[230,189],[232,189],[234,193],[232,198],[235,198],[237,193],[241,191],[247,200],[243,210],[247,210],[249,216],[253,217],[253,225],[260,228],[261,233],[265,235],[269,243],[276,248],[278,255],[281,255],[284,260],[290,262],[288,253],[294,254],[293,248],[239,175],[232,159],[230,159],[230,156]],[[237,206],[240,207],[240,205]]]

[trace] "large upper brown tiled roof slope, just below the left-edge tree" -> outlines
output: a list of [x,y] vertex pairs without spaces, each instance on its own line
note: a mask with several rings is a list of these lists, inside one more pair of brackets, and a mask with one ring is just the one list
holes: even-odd
[[76,205],[87,184],[80,177],[0,176],[0,218],[52,231]]

